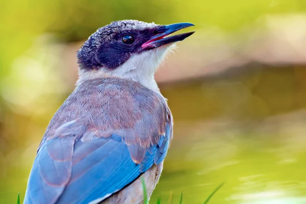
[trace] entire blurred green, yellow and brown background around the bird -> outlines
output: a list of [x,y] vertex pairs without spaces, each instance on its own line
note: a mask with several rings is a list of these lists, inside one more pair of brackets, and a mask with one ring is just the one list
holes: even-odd
[[0,203],[24,197],[75,52],[120,19],[192,22],[156,75],[174,139],[151,203],[306,203],[306,1],[1,1]]

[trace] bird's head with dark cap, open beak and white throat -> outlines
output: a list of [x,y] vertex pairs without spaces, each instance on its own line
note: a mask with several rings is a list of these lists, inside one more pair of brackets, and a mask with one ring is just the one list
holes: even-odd
[[[138,20],[114,21],[99,28],[77,53],[80,81],[101,76],[154,80],[154,73],[167,50],[194,32],[170,34],[191,23],[159,25]],[[143,82],[144,84],[146,82]],[[148,83],[148,82],[147,82]]]

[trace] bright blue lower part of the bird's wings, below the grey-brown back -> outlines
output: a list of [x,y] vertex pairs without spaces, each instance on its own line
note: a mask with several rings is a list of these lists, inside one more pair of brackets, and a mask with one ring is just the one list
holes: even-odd
[[[24,203],[88,203],[107,198],[149,169],[167,154],[169,125],[159,144],[142,148],[127,146],[120,137],[75,141],[55,138],[40,147]],[[135,150],[135,151],[134,151]],[[137,158],[145,152],[142,161]]]

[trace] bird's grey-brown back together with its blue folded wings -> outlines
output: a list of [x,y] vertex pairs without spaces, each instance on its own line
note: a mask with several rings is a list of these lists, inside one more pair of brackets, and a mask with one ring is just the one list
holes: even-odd
[[24,203],[106,199],[161,163],[171,137],[171,113],[157,93],[122,79],[84,82],[47,127]]

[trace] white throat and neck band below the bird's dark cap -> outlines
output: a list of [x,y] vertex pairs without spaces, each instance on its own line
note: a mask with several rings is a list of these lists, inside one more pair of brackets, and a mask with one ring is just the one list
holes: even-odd
[[98,70],[80,70],[77,86],[84,81],[103,77],[116,77],[129,79],[160,93],[158,85],[154,79],[154,74],[160,63],[165,59],[165,55],[172,50],[175,45],[162,46],[151,49],[140,54],[134,54],[121,66],[109,70],[101,67]]

